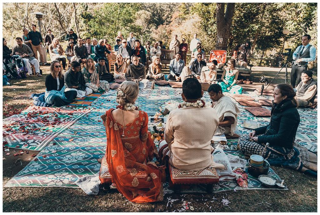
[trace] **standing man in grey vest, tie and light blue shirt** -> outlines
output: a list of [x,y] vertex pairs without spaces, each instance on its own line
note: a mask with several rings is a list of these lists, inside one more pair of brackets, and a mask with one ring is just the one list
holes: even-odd
[[301,39],[302,45],[298,46],[293,52],[290,74],[290,84],[293,88],[295,88],[297,79],[298,84],[301,82],[301,73],[307,70],[308,62],[316,59],[316,48],[309,44],[310,40],[310,35],[303,35]]

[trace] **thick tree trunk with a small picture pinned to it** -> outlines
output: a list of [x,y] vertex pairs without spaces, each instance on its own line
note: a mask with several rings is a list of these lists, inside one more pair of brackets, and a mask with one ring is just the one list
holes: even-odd
[[[224,12],[225,3],[217,4],[217,50],[227,50],[228,39],[230,37],[232,18],[235,12],[235,3],[227,3],[226,12]],[[221,39],[222,38],[222,42]],[[220,43],[219,43],[220,40]]]

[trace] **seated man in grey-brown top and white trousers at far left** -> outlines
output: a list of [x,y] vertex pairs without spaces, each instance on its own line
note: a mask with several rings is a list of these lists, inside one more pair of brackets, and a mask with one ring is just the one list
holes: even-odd
[[33,56],[32,50],[29,48],[29,46],[27,46],[26,44],[23,44],[21,37],[17,37],[16,41],[18,45],[13,47],[12,55],[19,55],[22,58],[23,62],[27,66],[27,70],[30,76],[32,75],[32,69],[30,64],[32,64],[35,67],[37,76],[41,77],[42,75],[40,74],[39,61],[38,59],[32,57]]

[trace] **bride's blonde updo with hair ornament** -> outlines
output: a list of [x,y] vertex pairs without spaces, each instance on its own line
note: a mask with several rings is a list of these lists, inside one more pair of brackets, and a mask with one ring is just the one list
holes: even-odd
[[[119,91],[123,92],[123,96],[119,95]],[[125,105],[126,103],[134,104],[135,99],[139,95],[139,86],[134,81],[124,81],[117,89],[116,102],[120,105]]]

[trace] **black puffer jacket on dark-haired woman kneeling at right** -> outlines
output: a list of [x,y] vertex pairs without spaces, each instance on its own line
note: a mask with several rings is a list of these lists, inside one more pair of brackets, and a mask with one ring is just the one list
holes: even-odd
[[297,129],[300,123],[300,115],[291,100],[284,100],[279,104],[272,104],[270,123],[257,129],[259,143],[269,143],[270,146],[293,148]]

